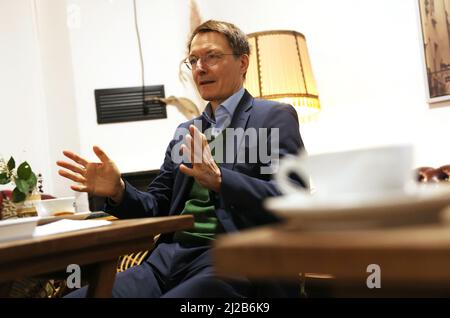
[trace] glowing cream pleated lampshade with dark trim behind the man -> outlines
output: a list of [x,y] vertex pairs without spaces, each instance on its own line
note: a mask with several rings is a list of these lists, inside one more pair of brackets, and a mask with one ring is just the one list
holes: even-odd
[[320,110],[305,36],[296,31],[248,34],[252,48],[245,88],[255,97],[293,105],[300,121]]

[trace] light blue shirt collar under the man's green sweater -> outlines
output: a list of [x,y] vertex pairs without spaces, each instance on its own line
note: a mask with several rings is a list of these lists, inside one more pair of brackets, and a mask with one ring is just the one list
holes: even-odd
[[211,134],[217,137],[225,128],[231,124],[231,119],[233,118],[234,111],[239,104],[242,96],[244,96],[245,89],[242,87],[236,93],[228,97],[219,107],[216,109],[214,114],[215,120],[212,116],[211,103],[208,103],[203,115],[206,120],[211,124]]

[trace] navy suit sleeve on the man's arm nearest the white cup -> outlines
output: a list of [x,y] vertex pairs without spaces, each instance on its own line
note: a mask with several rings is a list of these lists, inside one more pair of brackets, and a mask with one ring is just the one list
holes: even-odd
[[[304,148],[297,113],[292,106],[282,104],[280,107],[272,108],[266,116],[263,127],[268,128],[269,131],[278,128],[278,154],[280,159],[287,154],[297,154],[299,150]],[[273,133],[269,134],[269,144],[271,138],[274,137],[277,136]],[[268,165],[270,164],[273,164],[273,162]],[[230,211],[232,215],[235,214],[233,215],[234,219],[244,217],[250,218],[251,223],[266,223],[259,222],[261,218],[264,218],[264,199],[281,194],[276,182],[271,180],[271,175],[249,176],[226,168],[222,168],[221,173],[220,196],[223,207]]]

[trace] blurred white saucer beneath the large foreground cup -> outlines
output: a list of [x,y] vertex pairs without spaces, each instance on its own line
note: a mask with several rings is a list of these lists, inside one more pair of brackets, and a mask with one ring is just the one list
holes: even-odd
[[265,207],[301,229],[361,229],[435,223],[450,205],[450,185],[423,184],[376,195],[290,194]]

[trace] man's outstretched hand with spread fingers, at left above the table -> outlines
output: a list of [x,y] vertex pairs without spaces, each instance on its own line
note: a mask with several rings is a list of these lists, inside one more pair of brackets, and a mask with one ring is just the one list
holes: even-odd
[[78,183],[71,186],[74,191],[110,197],[113,201],[120,203],[125,189],[125,183],[120,178],[120,171],[103,150],[97,146],[93,149],[101,162],[88,162],[71,151],[63,151],[63,154],[73,162],[57,161],[58,166],[69,170],[59,170],[58,173]]

